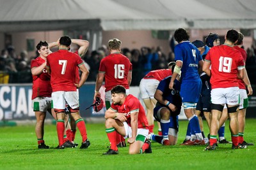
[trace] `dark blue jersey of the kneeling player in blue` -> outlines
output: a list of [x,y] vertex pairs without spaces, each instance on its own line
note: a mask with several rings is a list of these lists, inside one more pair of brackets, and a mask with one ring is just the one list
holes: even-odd
[[168,76],[160,81],[157,89],[163,92],[163,99],[170,101],[170,103],[174,104],[175,106],[181,106],[181,98],[180,98],[180,81],[174,80],[173,89],[169,89],[169,83],[171,81],[172,76]]

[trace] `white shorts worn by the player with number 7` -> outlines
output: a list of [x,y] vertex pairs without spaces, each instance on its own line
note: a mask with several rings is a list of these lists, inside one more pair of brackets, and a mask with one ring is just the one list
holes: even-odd
[[52,103],[54,109],[64,110],[66,107],[66,102],[72,109],[79,108],[78,92],[52,92]]

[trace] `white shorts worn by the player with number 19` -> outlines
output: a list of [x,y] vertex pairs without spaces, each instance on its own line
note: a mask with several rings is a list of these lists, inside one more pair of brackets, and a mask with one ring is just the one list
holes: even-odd
[[239,88],[216,88],[211,90],[211,101],[213,104],[239,104]]

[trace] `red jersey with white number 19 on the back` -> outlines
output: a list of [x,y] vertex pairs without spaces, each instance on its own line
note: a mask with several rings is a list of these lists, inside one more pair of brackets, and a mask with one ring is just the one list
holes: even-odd
[[244,60],[240,52],[232,46],[214,46],[205,57],[211,62],[212,89],[238,87],[237,72],[244,68]]

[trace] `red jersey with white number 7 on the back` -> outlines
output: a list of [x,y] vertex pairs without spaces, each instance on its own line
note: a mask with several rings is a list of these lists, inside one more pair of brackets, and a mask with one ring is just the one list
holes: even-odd
[[76,53],[58,50],[47,57],[47,66],[51,68],[52,92],[76,91],[76,71],[83,60]]

